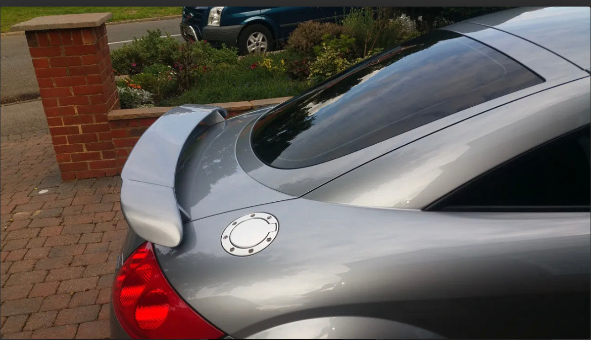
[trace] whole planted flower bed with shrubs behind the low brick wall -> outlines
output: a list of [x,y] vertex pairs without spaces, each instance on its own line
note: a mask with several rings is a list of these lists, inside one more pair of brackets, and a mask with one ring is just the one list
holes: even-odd
[[384,49],[418,36],[392,8],[353,11],[343,25],[308,22],[285,50],[239,57],[206,41],[179,43],[148,31],[111,53],[121,108],[258,100],[297,95]]

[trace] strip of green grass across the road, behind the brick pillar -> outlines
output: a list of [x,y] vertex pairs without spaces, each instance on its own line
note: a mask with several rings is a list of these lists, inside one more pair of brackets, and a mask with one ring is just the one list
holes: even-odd
[[43,15],[112,12],[111,21],[124,21],[180,15],[181,11],[181,7],[1,7],[0,33],[9,32],[12,25]]

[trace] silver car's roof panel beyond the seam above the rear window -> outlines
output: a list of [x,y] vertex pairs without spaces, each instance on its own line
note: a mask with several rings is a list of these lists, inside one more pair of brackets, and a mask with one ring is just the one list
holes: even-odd
[[465,22],[521,37],[588,70],[591,68],[590,13],[589,7],[522,7]]

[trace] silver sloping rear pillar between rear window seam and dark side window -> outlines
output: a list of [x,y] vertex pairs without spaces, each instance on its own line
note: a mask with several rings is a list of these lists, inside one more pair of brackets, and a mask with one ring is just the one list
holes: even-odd
[[589,80],[587,76],[538,92],[434,131],[304,197],[354,206],[424,209],[466,179],[589,124]]

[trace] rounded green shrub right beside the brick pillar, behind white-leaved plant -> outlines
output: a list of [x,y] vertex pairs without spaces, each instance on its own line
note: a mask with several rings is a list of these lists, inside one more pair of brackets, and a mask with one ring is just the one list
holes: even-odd
[[111,52],[115,72],[134,75],[155,63],[173,65],[180,43],[170,36],[162,38],[161,35],[160,30],[148,30],[147,36],[134,39],[131,44]]

